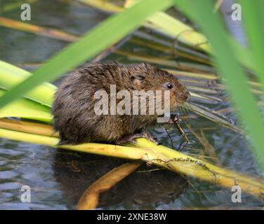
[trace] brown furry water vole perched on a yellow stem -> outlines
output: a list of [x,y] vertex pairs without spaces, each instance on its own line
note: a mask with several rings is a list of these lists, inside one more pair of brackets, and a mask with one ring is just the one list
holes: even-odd
[[[183,104],[189,96],[185,86],[171,73],[150,64],[88,64],[62,80],[55,93],[52,112],[55,130],[60,134],[59,144],[90,141],[120,144],[122,139],[128,141],[140,136],[152,139],[145,130],[157,122],[157,113],[95,114],[95,104],[98,102],[95,92],[103,90],[109,93],[110,99],[111,85],[116,87],[117,92],[127,90],[131,95],[135,90],[169,90],[172,110]],[[131,96],[129,100],[132,99]],[[116,104],[121,100],[117,99]],[[163,105],[166,103],[164,97],[160,100]],[[110,105],[107,104],[107,108]]]

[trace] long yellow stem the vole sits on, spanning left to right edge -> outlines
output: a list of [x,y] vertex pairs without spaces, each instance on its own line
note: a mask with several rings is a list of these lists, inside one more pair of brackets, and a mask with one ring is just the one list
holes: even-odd
[[[11,127],[13,130],[2,129],[0,123],[0,137],[15,141],[27,141],[34,144],[58,147],[57,144],[59,139],[57,137],[48,137],[48,135],[52,133],[51,126],[46,125],[46,130],[45,127],[42,127],[42,132],[46,135],[43,136],[34,134],[38,132],[34,123],[27,125],[27,132],[32,132],[32,134],[21,132],[22,125],[17,128],[18,131],[15,131],[14,126]],[[232,186],[237,184],[245,193],[251,193],[257,196],[263,196],[264,193],[264,184],[260,179],[254,179],[243,174],[231,172],[228,169],[211,165],[209,162],[198,160],[197,158],[193,158],[165,146],[157,146],[151,141],[147,141],[147,139],[140,138],[137,139],[137,144],[127,144],[126,146],[89,143],[77,146],[60,146],[60,148],[117,158],[143,160],[150,165],[153,164],[165,167],[173,172],[225,186],[226,188],[230,188],[230,190]]]

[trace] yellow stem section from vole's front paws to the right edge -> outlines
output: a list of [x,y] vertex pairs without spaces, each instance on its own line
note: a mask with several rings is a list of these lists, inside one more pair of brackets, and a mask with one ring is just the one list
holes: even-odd
[[[156,144],[147,141],[147,139],[137,139],[137,141],[137,147],[152,148],[152,150],[157,153],[162,153],[169,158],[173,158],[171,162],[173,162],[173,169],[175,169],[176,172],[195,176],[198,179],[217,183],[230,189],[237,184],[242,190],[248,193],[256,193],[258,190],[260,196],[261,192],[264,193],[264,184],[260,179],[254,179],[243,174],[231,172],[229,169],[211,165],[209,162],[204,162],[178,151],[173,151],[166,146],[157,146]],[[194,169],[194,167],[197,168]]]

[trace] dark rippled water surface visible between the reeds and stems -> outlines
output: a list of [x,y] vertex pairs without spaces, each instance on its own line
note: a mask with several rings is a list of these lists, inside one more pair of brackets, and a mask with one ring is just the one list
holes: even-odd
[[[1,1],[2,6],[10,1]],[[13,1],[15,2],[15,1]],[[20,20],[20,10],[14,9],[1,16]],[[32,21],[30,23],[43,27],[61,29],[72,34],[81,35],[91,29],[100,21],[107,18],[107,14],[99,10],[83,6],[77,2],[70,1],[53,1],[42,0],[32,3]],[[55,40],[36,34],[18,31],[15,29],[7,29],[0,27],[0,59],[11,64],[17,64],[23,68],[32,69],[32,64],[43,63],[46,59],[55,55],[65,45],[64,41]],[[100,41],[100,40],[98,40]],[[125,44],[123,48],[133,48],[133,45]],[[145,52],[143,47],[136,47],[137,52]],[[150,52],[148,50],[147,52]],[[119,62],[129,62],[123,56],[111,55],[107,59],[115,59]],[[132,63],[132,62],[131,62]],[[228,106],[227,103],[218,105],[206,105],[215,109],[222,109]],[[235,116],[229,114],[233,119]],[[222,167],[227,167],[233,171],[242,172],[250,176],[258,175],[258,169],[253,160],[249,146],[245,138],[231,130],[212,123],[204,118],[185,120],[193,129],[203,129],[206,139],[213,146],[218,156],[218,164]],[[184,149],[185,153],[199,153],[202,150],[202,145],[199,141],[185,129],[191,144]],[[169,128],[173,142],[176,146],[180,143],[178,132],[174,128]],[[161,141],[162,144],[171,147],[171,141],[168,134],[162,127],[157,127],[152,130],[152,134]],[[77,186],[74,186],[74,176],[79,174],[78,171],[73,171],[67,174],[67,169],[54,167],[58,159],[58,153],[54,148],[48,146],[39,146],[35,144],[27,144],[23,142],[10,141],[8,139],[0,139],[0,209],[74,209],[75,202],[72,202],[71,195],[73,189],[80,191]],[[75,156],[75,155],[73,155]],[[95,157],[91,160],[102,160],[105,164],[112,164],[112,160],[107,163],[107,159]],[[87,158],[86,161],[89,161]],[[62,160],[63,163],[63,160]],[[117,162],[117,164],[120,163]],[[66,166],[66,162],[65,162]],[[97,166],[97,167],[96,167]],[[96,164],[95,167],[90,167],[93,174],[105,166]],[[110,166],[111,167],[111,166]],[[109,167],[109,168],[110,168]],[[102,168],[103,169],[103,168]],[[75,172],[75,173],[74,173]],[[154,189],[165,192],[162,197],[157,194],[156,201],[138,202],[138,200],[111,200],[111,194],[131,193],[133,191],[133,179],[125,179],[124,186],[119,185],[105,197],[106,204],[101,204],[101,209],[192,209],[192,208],[229,208],[229,207],[244,207],[257,208],[263,207],[263,202],[251,195],[242,193],[242,203],[234,204],[231,201],[231,189],[221,188],[219,186],[199,181],[197,179],[188,178],[189,184],[184,186],[184,189],[176,186],[175,181],[171,179],[171,172],[162,171],[160,174],[152,172],[152,176],[143,176],[140,181],[141,174],[134,174],[135,186],[138,184],[138,190],[143,190],[143,185],[146,184],[147,189],[154,186]],[[156,175],[157,174],[157,175]],[[91,176],[92,183],[97,177],[103,175],[103,171],[98,171],[97,176]],[[138,176],[137,176],[138,175]],[[156,177],[156,176],[157,177]],[[168,176],[169,175],[169,176]],[[86,177],[87,179],[89,176]],[[146,178],[151,180],[147,183]],[[163,181],[159,181],[163,179]],[[179,176],[175,176],[179,179]],[[63,183],[62,183],[63,182]],[[89,182],[89,183],[90,183]],[[20,196],[21,186],[27,185],[32,188],[32,202],[22,203]],[[67,185],[67,186],[65,186]],[[171,197],[168,189],[180,189],[180,193]],[[131,187],[131,189],[129,189]],[[77,189],[76,189],[77,188]],[[159,189],[160,188],[160,189]],[[136,189],[136,187],[135,187]],[[151,190],[151,189],[150,189]],[[136,193],[135,193],[136,194]],[[147,195],[147,193],[146,193]],[[141,198],[144,195],[140,195]],[[155,195],[152,197],[155,197]]]

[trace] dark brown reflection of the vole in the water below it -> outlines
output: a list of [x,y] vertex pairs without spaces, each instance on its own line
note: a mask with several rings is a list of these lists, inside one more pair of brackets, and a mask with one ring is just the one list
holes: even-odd
[[[58,150],[53,162],[54,176],[69,203],[77,204],[88,186],[125,162],[126,160]],[[144,165],[100,195],[98,207],[122,204],[126,209],[132,209],[146,206],[150,208],[152,204],[168,204],[176,200],[186,187],[187,181],[180,174]]]

